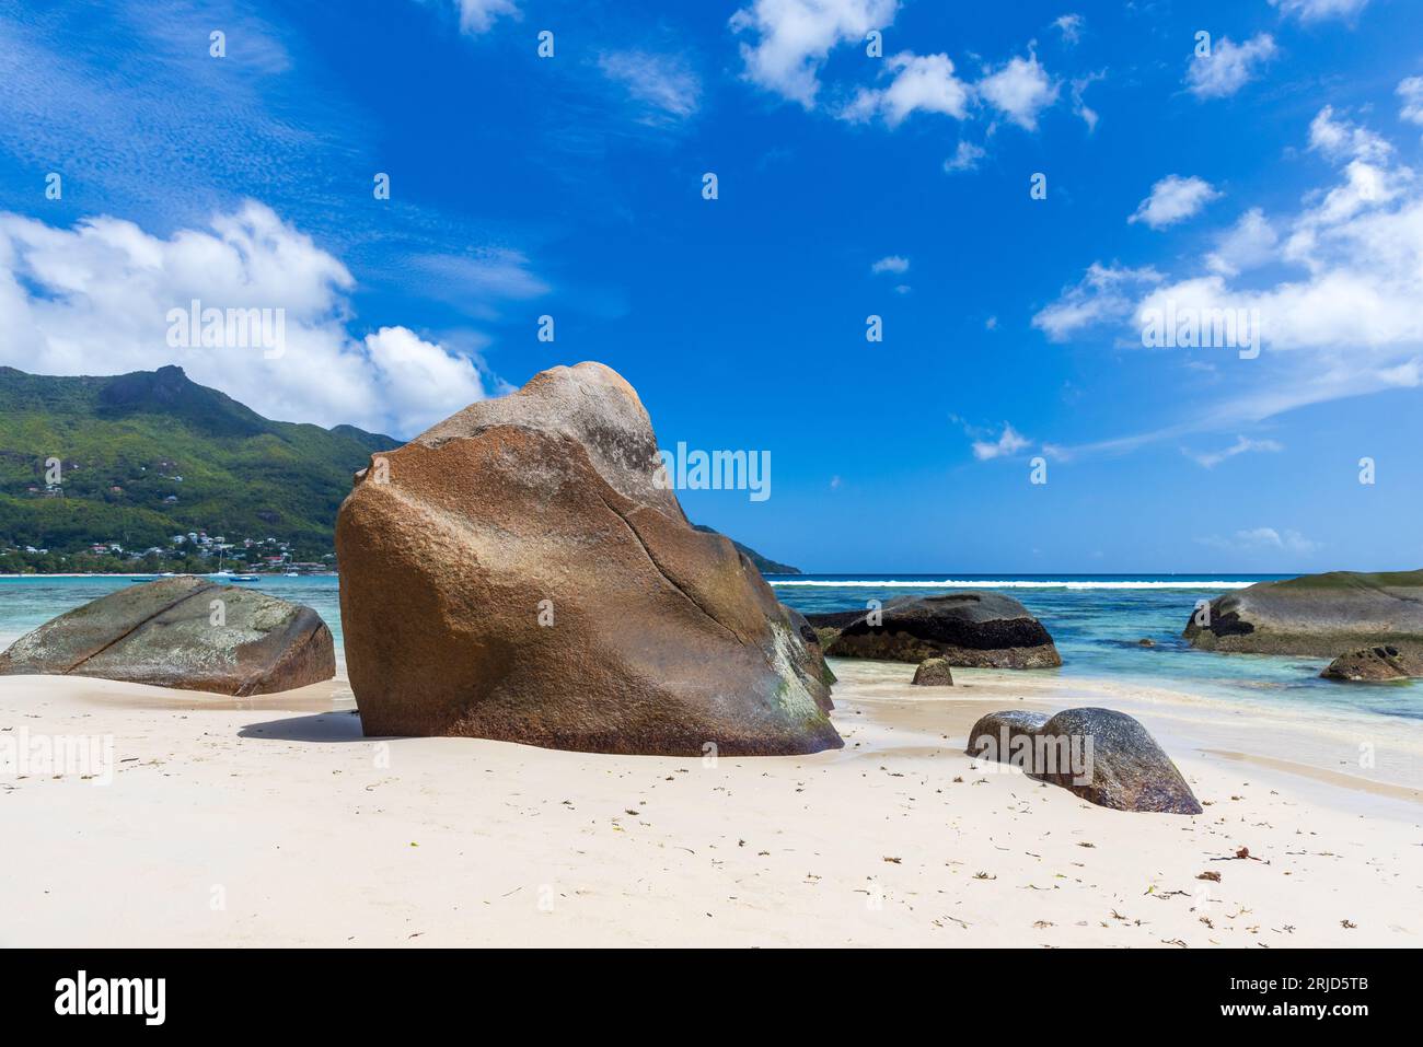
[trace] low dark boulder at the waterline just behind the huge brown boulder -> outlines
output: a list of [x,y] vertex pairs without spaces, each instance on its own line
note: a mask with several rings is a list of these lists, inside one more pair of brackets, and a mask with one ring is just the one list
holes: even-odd
[[1012,596],[961,592],[896,596],[878,610],[807,615],[817,630],[838,629],[825,654],[979,669],[1052,669],[1063,663],[1042,622]]

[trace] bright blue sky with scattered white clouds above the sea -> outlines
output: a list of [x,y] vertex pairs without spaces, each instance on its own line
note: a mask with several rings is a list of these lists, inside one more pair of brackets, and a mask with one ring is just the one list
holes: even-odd
[[[805,569],[1414,568],[1417,17],[0,1],[0,364],[410,435],[601,360],[665,447],[771,454],[683,504]],[[191,297],[287,350],[169,347]],[[1146,349],[1164,306],[1264,349]]]

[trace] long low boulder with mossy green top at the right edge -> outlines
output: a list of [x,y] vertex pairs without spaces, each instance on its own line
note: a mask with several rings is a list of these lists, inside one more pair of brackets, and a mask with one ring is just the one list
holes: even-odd
[[1257,582],[1211,600],[1208,616],[1192,612],[1184,636],[1201,650],[1247,654],[1423,653],[1423,570]]

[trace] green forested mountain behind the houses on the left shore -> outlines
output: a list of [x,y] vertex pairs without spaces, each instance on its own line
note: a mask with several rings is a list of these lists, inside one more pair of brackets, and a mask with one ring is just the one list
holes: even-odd
[[319,559],[351,472],[398,445],[269,421],[181,367],[98,378],[0,367],[0,546],[141,551],[206,531]]

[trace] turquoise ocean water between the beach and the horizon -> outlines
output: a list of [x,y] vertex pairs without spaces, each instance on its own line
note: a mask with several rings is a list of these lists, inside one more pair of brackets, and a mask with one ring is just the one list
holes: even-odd
[[[773,575],[777,595],[803,612],[864,607],[867,600],[924,596],[955,589],[996,589],[1020,600],[1057,642],[1066,677],[1174,687],[1254,703],[1308,703],[1423,720],[1423,681],[1345,684],[1319,679],[1322,659],[1211,654],[1181,640],[1195,602],[1275,575]],[[134,578],[0,578],[0,646]],[[342,640],[334,576],[262,578],[242,582],[306,603]],[[1150,637],[1155,647],[1137,640]]]

